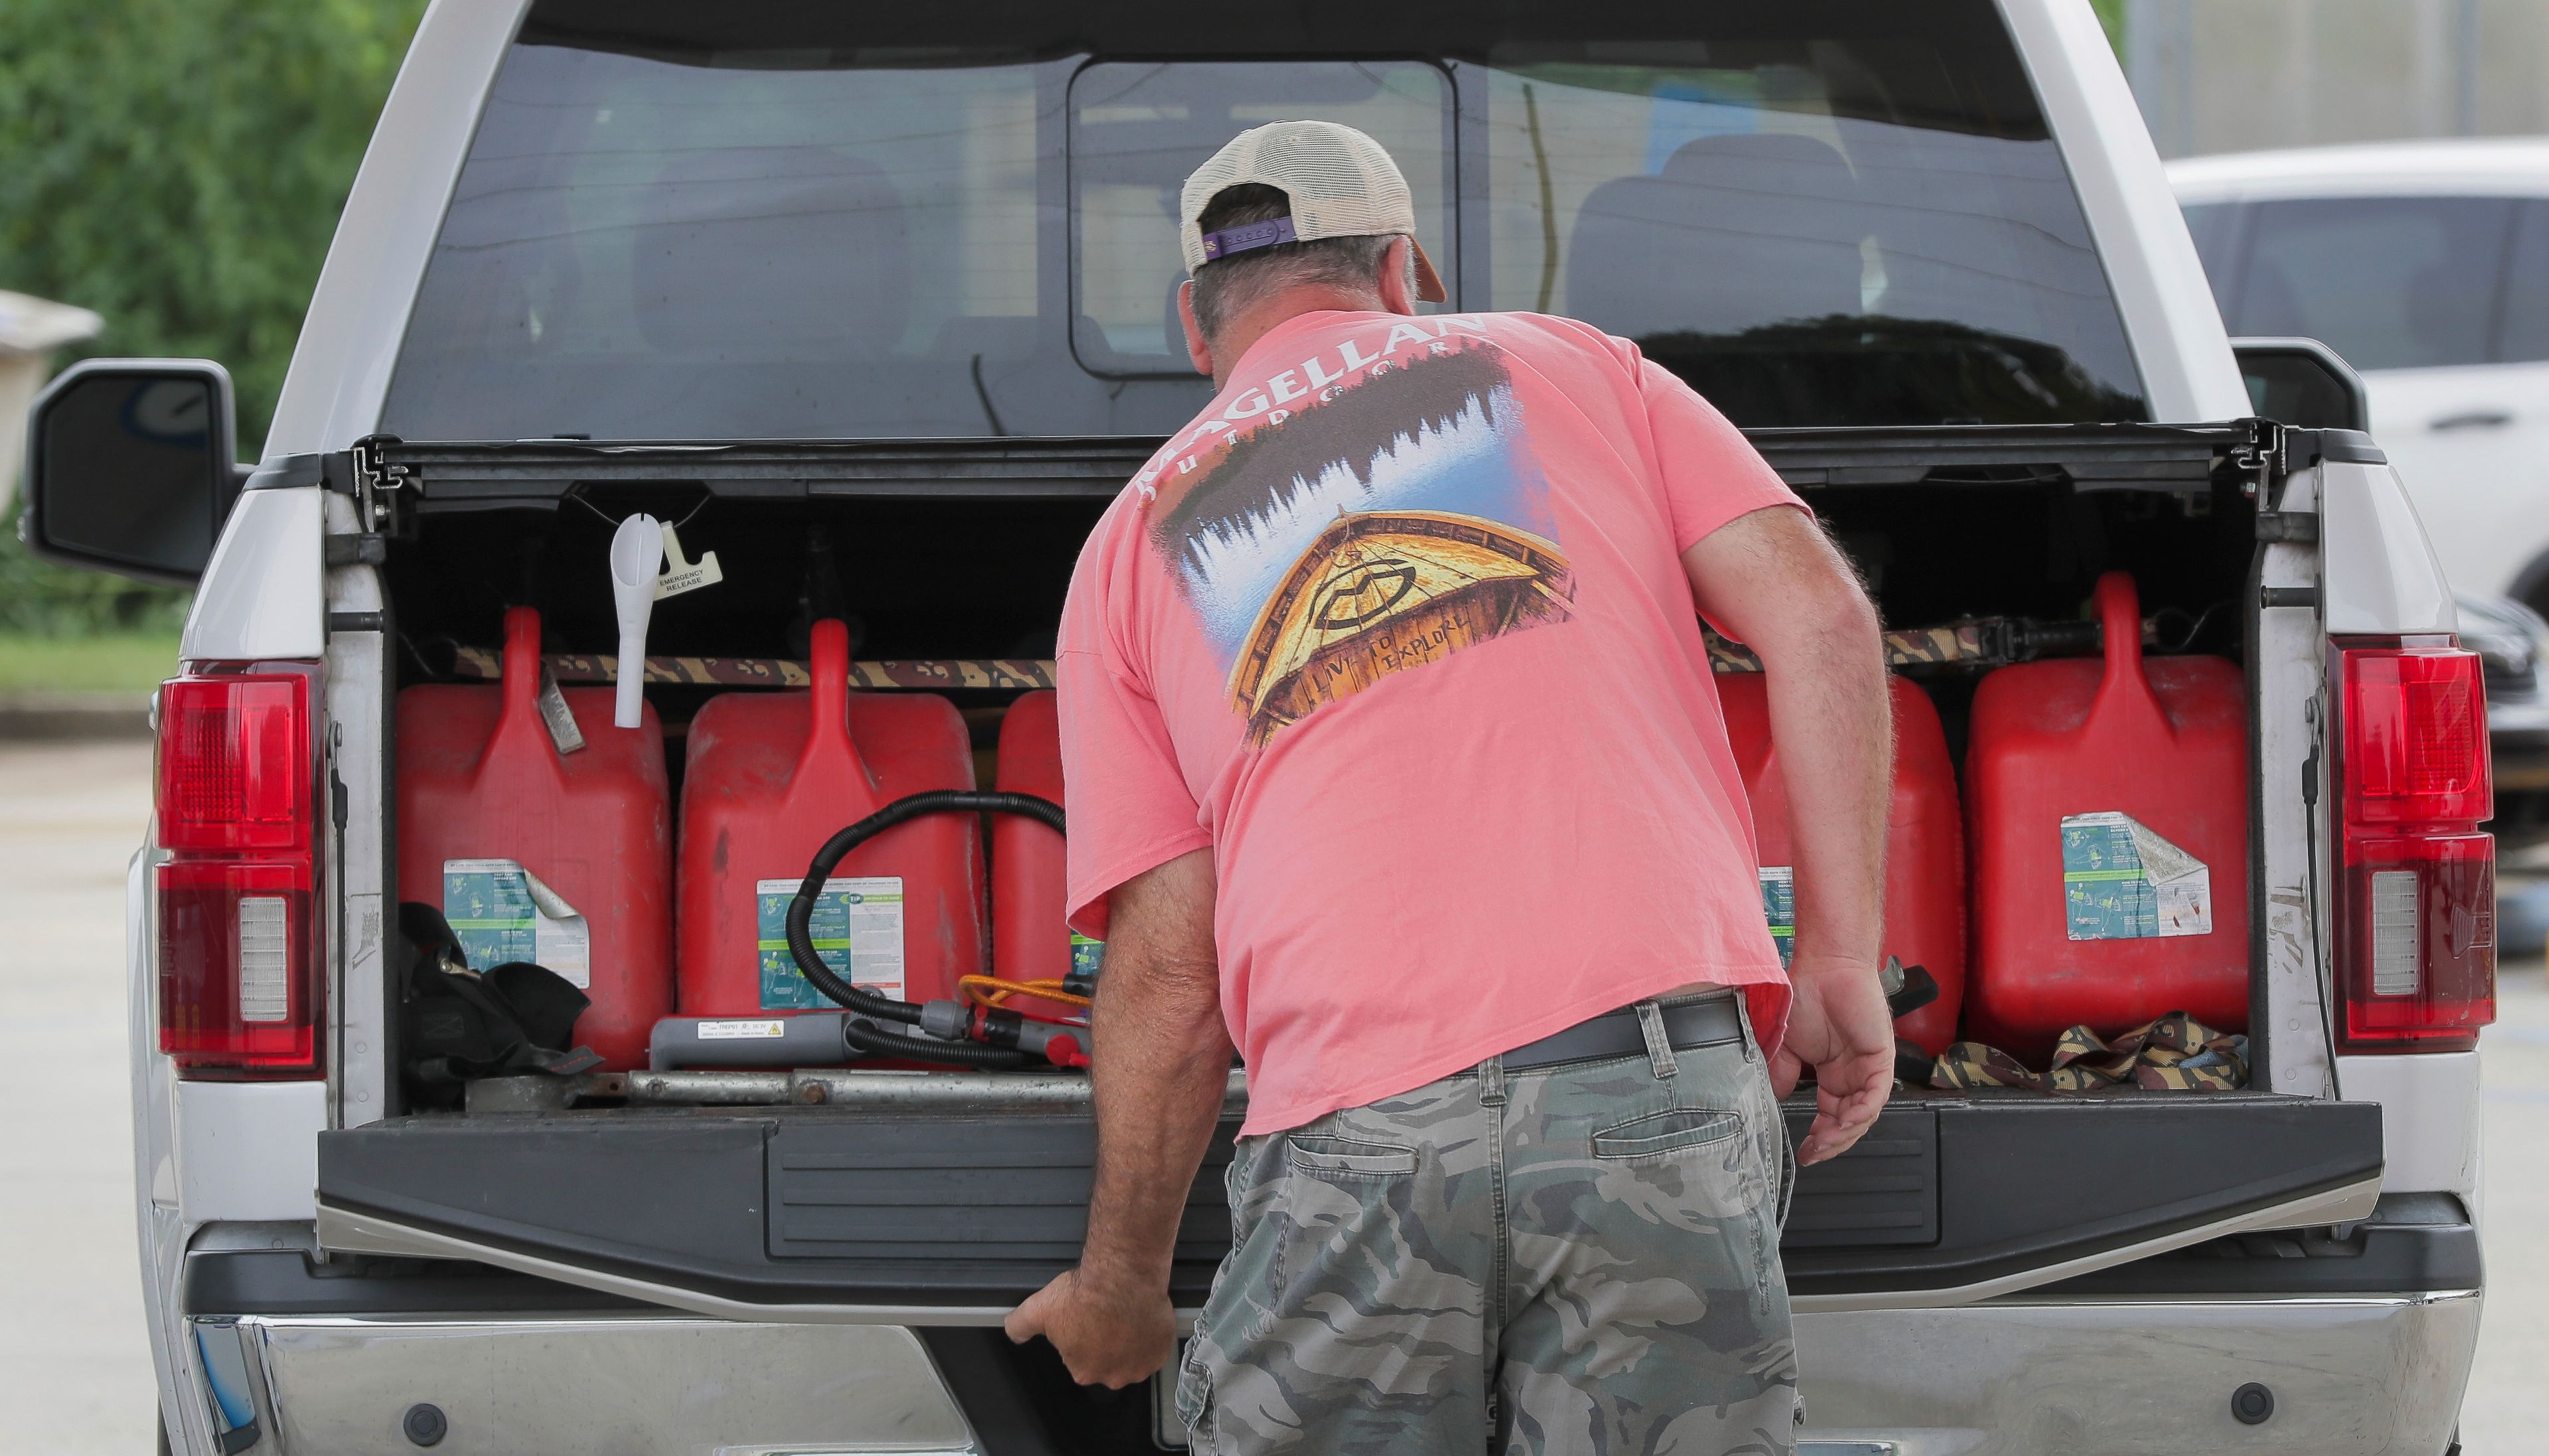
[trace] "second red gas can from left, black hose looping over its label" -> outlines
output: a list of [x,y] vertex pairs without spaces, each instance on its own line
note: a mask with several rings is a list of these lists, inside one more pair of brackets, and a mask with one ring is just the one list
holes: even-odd
[[[691,719],[681,783],[681,1010],[831,1007],[788,956],[788,900],[836,831],[930,788],[974,788],[956,704],[851,694],[849,630],[813,625],[813,691],[724,694]],[[925,813],[849,852],[816,905],[818,951],[902,1000],[981,972],[981,829]],[[839,964],[834,969],[841,969]]]

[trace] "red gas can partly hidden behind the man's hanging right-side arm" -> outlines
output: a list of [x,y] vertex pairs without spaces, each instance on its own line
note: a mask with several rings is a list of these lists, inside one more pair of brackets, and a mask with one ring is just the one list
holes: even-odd
[[[1726,737],[1744,770],[1754,839],[1761,847],[1761,900],[1772,933],[1794,933],[1792,836],[1787,783],[1769,742],[1769,681],[1761,673],[1718,678]],[[1894,1028],[1930,1056],[1955,1040],[1955,1012],[1965,1000],[1965,826],[1955,806],[1955,762],[1930,694],[1904,678],[1891,681],[1894,701],[1894,803],[1886,811],[1886,928],[1884,954],[1924,966],[1937,979],[1937,1000]],[[1784,910],[1784,926],[1782,926]],[[1779,956],[1789,943],[1782,938]]]

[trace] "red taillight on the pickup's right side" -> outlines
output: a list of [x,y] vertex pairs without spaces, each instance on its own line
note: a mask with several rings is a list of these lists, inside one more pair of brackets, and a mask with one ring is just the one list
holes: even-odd
[[2337,1040],[2467,1051],[2495,1020],[2495,813],[2478,653],[2340,645]]

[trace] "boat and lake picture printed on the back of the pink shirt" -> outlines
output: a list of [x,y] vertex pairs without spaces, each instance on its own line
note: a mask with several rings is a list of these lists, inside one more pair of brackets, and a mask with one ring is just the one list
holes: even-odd
[[1501,349],[1433,339],[1341,375],[1180,459],[1152,507],[1252,745],[1575,599]]

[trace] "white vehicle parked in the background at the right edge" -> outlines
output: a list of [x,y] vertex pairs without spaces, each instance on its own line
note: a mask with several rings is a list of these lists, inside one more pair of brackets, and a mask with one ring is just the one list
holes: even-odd
[[2169,163],[2233,337],[2309,337],[2371,390],[2460,592],[2549,609],[2549,138]]

